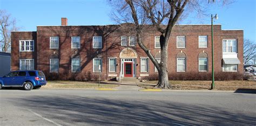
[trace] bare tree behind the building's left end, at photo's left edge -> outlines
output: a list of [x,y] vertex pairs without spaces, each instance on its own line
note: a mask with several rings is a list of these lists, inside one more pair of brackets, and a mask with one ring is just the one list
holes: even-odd
[[16,20],[4,10],[0,10],[0,45],[3,52],[11,51],[11,31],[17,31]]

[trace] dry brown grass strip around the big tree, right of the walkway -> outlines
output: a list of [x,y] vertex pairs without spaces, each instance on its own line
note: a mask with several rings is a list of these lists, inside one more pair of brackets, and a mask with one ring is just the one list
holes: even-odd
[[[154,85],[158,81],[146,81],[145,83],[140,83],[140,87],[143,88],[154,88]],[[209,90],[211,88],[212,81],[180,81],[171,80],[170,84],[173,90]],[[232,81],[215,81],[216,90],[234,91],[238,88],[256,89],[256,81],[247,80],[232,80]]]

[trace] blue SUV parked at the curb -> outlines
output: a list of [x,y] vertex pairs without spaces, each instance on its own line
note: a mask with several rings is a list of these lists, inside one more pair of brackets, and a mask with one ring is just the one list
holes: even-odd
[[0,77],[0,89],[2,87],[23,87],[24,90],[41,88],[46,85],[44,73],[37,70],[12,71],[8,75]]

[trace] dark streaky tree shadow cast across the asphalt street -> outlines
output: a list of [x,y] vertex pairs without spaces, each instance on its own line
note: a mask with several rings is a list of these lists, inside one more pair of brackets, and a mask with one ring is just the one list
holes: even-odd
[[58,95],[12,99],[63,125],[254,125],[255,113],[158,100]]

